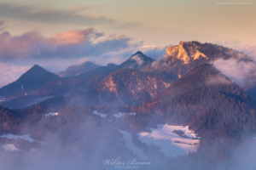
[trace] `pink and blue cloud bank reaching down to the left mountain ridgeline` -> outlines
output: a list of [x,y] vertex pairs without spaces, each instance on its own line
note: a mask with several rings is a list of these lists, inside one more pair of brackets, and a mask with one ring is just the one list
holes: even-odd
[[[0,87],[20,77],[28,67],[38,64],[49,71],[61,71],[86,60],[119,63],[133,53],[140,43],[125,35],[105,35],[94,28],[69,30],[44,37],[39,31],[12,36],[0,34]],[[63,68],[63,66],[65,68]],[[21,69],[23,68],[23,69]],[[26,68],[26,69],[25,69]]]

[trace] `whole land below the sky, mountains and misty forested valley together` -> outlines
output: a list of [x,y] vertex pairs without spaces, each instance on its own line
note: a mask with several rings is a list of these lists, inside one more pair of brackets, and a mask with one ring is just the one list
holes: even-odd
[[83,157],[88,168],[119,156],[151,169],[229,163],[255,141],[256,81],[236,83],[218,59],[256,66],[235,49],[195,41],[168,46],[163,59],[138,51],[120,65],[87,61],[59,76],[34,65],[0,88],[0,153],[45,165]]

